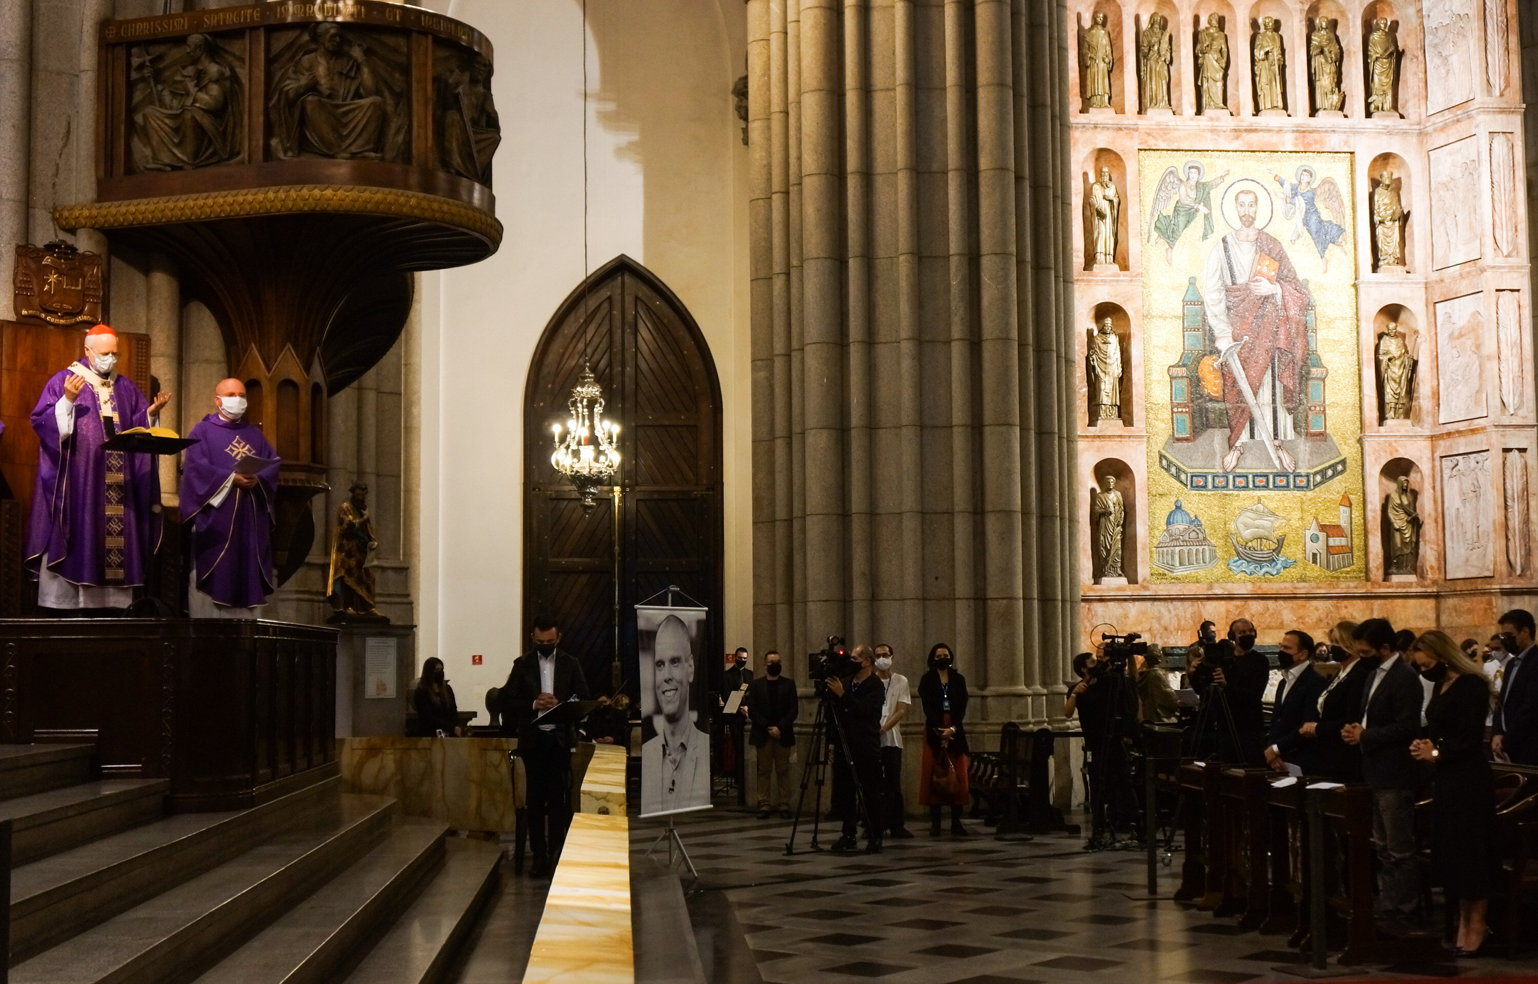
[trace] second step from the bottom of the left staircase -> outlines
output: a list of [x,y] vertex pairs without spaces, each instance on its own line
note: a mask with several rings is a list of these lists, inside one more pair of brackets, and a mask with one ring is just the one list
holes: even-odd
[[197,984],[323,984],[411,903],[443,866],[448,827],[400,818],[348,870],[288,910]]

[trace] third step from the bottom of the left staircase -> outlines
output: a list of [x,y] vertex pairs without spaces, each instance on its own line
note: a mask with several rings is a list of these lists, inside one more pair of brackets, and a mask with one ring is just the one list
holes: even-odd
[[341,795],[288,830],[11,969],[11,984],[161,984],[209,967],[384,838],[386,796]]

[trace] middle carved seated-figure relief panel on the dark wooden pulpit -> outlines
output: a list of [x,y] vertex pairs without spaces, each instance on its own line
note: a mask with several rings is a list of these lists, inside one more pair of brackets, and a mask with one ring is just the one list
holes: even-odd
[[323,22],[308,31],[275,31],[271,43],[275,157],[403,160],[409,129],[403,35]]

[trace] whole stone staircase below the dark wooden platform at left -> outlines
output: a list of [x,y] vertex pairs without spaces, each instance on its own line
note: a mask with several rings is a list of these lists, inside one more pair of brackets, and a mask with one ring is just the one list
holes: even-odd
[[165,780],[92,746],[0,746],[12,984],[440,981],[495,889],[495,844],[331,778],[166,815]]

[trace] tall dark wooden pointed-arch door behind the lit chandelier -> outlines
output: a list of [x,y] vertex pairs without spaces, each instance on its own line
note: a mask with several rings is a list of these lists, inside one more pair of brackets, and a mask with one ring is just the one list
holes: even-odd
[[[591,364],[604,417],[620,424],[620,643],[614,633],[614,498],[589,515],[551,466],[551,424]],[[529,364],[523,397],[523,613],[551,612],[561,649],[589,684],[612,686],[620,660],[635,695],[635,606],[677,584],[711,609],[721,672],[721,384],[704,335],[651,271],[620,255],[557,309]],[[521,635],[521,630],[520,630]],[[711,687],[717,689],[717,687]]]

